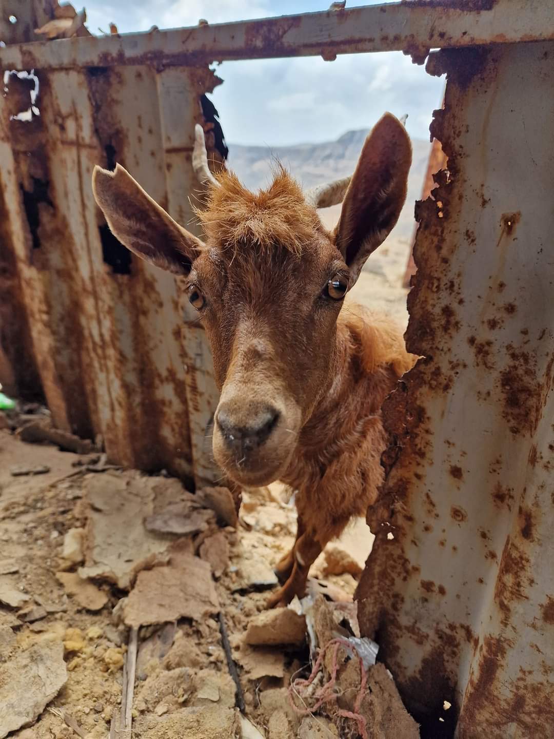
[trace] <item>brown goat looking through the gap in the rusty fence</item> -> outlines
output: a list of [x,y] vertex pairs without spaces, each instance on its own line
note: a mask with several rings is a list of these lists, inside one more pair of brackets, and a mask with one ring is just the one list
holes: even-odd
[[284,586],[270,605],[304,594],[312,562],[366,513],[382,480],[380,406],[414,357],[388,319],[341,307],[397,221],[410,164],[405,129],[384,115],[344,181],[332,233],[282,169],[258,194],[233,174],[207,175],[208,202],[198,213],[206,244],[122,167],[95,168],[95,197],[115,236],[184,276],[202,317],[221,390],[216,461],[239,486],[282,480],[297,491],[298,534],[278,564]]

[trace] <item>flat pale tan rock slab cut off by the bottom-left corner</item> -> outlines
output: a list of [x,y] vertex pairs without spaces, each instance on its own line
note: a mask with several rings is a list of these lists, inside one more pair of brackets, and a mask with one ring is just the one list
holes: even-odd
[[40,641],[2,669],[0,739],[33,723],[67,680],[61,641]]

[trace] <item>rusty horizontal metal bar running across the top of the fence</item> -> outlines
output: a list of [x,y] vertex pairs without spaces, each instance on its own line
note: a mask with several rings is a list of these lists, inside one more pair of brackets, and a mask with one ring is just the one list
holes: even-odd
[[4,69],[60,69],[415,51],[554,38],[554,0],[411,0],[151,33],[18,44]]

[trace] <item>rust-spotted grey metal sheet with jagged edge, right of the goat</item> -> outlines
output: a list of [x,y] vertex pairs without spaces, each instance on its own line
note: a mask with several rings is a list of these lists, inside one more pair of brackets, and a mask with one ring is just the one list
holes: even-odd
[[418,208],[406,337],[425,359],[385,409],[360,625],[424,735],[552,738],[554,44],[428,70],[447,72],[448,173]]

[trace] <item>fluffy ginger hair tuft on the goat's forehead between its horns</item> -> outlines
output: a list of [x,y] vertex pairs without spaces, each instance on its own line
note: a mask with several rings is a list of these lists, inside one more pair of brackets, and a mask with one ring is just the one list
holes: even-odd
[[301,256],[326,234],[301,188],[283,168],[265,190],[247,190],[233,172],[218,175],[205,209],[196,211],[208,240],[222,252],[271,252],[276,246]]

